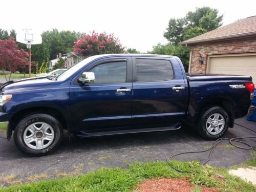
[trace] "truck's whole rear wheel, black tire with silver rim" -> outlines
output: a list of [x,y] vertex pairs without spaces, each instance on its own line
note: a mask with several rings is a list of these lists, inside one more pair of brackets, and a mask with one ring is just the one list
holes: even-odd
[[205,139],[215,140],[227,132],[228,125],[229,116],[226,110],[220,106],[214,106],[201,114],[197,130]]

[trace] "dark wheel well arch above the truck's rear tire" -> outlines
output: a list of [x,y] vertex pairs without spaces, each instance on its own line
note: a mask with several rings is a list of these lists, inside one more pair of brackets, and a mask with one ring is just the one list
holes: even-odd
[[228,116],[230,118],[229,127],[232,128],[234,126],[234,115],[236,113],[234,105],[230,100],[223,99],[223,98],[213,99],[213,100],[209,100],[209,101],[203,103],[203,105],[198,113],[199,115],[197,117],[197,121],[199,120],[201,114],[204,113],[211,106],[221,106],[222,108],[224,108],[227,111]]

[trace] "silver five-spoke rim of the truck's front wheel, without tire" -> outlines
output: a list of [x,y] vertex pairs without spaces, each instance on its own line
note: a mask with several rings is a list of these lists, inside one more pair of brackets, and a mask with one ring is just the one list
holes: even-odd
[[26,145],[34,150],[48,147],[54,139],[51,125],[45,122],[36,122],[29,125],[23,135]]

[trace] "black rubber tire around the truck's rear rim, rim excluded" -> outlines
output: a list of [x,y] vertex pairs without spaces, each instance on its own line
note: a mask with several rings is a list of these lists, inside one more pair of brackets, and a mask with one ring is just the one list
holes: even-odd
[[[206,129],[206,121],[212,114],[215,114],[215,113],[219,113],[224,117],[225,126],[219,134],[211,135],[210,133],[208,133],[208,131]],[[209,108],[208,110],[206,110],[203,113],[202,118],[199,121],[199,123],[200,124],[198,125],[198,127],[199,127],[200,134],[206,139],[215,140],[215,139],[220,138],[227,132],[228,127],[229,127],[228,126],[229,125],[229,116],[223,108],[221,108],[220,106],[214,106],[214,107]]]

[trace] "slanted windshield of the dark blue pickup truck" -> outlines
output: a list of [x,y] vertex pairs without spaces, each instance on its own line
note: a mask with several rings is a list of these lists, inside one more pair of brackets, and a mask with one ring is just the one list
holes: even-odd
[[67,71],[65,71],[64,73],[60,74],[58,76],[58,80],[59,81],[63,81],[68,79],[71,75],[73,75],[76,71],[78,71],[79,69],[81,69],[82,67],[84,67],[85,65],[87,65],[89,62],[91,62],[92,60],[94,60],[94,57],[88,57],[84,60],[82,60],[81,62],[78,62],[76,65],[74,65],[73,67],[69,68]]

